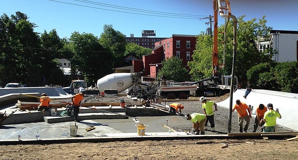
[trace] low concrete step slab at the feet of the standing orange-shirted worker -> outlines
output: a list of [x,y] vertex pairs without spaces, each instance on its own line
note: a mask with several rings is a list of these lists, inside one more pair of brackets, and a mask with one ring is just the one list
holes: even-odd
[[[121,115],[125,115],[125,113],[79,113],[79,120],[90,120],[90,119],[128,119],[128,117],[124,117]],[[74,121],[74,117],[43,117],[44,121],[47,123],[61,123],[61,122],[69,122]]]

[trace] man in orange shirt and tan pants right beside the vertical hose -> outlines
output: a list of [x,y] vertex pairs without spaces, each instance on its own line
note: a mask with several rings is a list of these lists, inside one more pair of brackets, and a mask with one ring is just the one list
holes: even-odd
[[[232,112],[234,112],[235,109],[238,112],[239,132],[242,133],[243,130],[244,130],[244,132],[246,132],[248,129],[250,118],[251,118],[251,110],[249,109],[247,104],[240,102],[239,99],[236,100],[236,104],[233,106]],[[246,110],[248,111],[248,114],[247,114]],[[244,129],[243,129],[243,120],[245,120]]]

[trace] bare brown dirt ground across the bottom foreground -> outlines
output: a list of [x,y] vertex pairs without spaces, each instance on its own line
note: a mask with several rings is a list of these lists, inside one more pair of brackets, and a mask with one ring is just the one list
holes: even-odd
[[[297,141],[284,140],[124,141],[0,146],[1,159],[297,159]],[[210,141],[210,140],[209,140]],[[245,141],[255,142],[246,144]],[[228,148],[221,148],[222,144]],[[232,144],[233,143],[233,144]]]

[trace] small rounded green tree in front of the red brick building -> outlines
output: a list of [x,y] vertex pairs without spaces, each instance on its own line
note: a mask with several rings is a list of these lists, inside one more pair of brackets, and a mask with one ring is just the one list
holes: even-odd
[[166,58],[161,64],[162,68],[158,71],[158,77],[164,74],[167,80],[174,80],[174,82],[189,80],[188,71],[183,66],[182,59],[172,56]]

